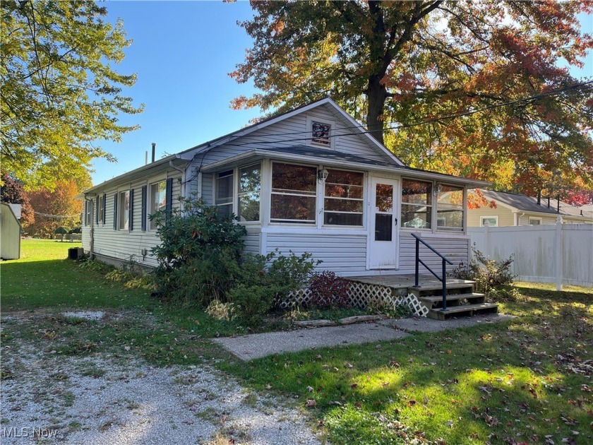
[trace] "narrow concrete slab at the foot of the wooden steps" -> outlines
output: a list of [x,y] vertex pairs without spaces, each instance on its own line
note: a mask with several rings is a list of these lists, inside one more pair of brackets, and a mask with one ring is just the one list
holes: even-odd
[[508,321],[514,319],[512,315],[505,314],[487,314],[469,317],[460,317],[458,319],[434,320],[428,318],[415,317],[412,319],[389,319],[378,321],[378,324],[402,329],[404,331],[417,332],[438,332],[446,329],[467,328],[477,324],[490,324],[498,321]]

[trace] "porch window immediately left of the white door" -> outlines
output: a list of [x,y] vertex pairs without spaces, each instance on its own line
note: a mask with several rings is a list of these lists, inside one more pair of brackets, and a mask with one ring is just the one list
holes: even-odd
[[326,225],[362,225],[364,174],[328,170],[323,200]]

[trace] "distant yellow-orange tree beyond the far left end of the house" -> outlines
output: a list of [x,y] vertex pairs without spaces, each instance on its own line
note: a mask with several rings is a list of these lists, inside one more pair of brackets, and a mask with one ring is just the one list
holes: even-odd
[[29,192],[32,208],[35,209],[35,223],[26,232],[37,237],[48,237],[58,227],[72,229],[80,225],[83,201],[75,196],[80,193],[73,180],[58,182],[53,190],[38,189]]

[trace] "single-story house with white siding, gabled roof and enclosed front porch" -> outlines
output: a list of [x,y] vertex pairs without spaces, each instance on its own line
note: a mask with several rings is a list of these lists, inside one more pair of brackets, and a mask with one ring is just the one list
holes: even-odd
[[195,194],[239,217],[253,254],[309,252],[342,276],[413,273],[412,234],[467,263],[467,189],[486,185],[407,167],[326,98],[86,190],[83,247],[102,261],[155,266],[148,215]]

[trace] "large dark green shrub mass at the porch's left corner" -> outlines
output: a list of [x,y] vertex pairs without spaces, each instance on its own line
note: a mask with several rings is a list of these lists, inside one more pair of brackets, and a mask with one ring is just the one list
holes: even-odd
[[151,217],[161,240],[152,249],[159,263],[155,283],[165,301],[198,303],[217,313],[230,303],[236,318],[254,326],[276,299],[304,285],[318,264],[311,254],[292,252],[242,257],[246,230],[234,216],[222,217],[200,199],[181,202],[182,210]]

